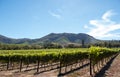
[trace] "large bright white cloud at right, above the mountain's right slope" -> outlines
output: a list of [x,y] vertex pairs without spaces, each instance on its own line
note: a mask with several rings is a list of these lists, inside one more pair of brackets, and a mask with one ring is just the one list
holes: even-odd
[[110,10],[103,14],[101,20],[90,20],[89,25],[92,25],[92,27],[88,27],[90,29],[88,34],[96,38],[120,37],[118,34],[112,33],[112,31],[120,29],[120,23],[110,20],[110,17],[114,14]]

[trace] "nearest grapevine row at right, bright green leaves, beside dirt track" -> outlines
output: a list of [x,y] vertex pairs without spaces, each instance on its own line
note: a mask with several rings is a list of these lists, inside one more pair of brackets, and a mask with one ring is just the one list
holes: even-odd
[[120,52],[118,49],[105,47],[91,47],[90,49],[90,75],[97,74],[101,68]]

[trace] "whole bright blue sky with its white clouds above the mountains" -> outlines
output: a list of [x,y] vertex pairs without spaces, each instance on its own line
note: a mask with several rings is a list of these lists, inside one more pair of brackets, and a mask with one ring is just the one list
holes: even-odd
[[0,34],[40,38],[87,33],[120,39],[120,0],[0,0]]

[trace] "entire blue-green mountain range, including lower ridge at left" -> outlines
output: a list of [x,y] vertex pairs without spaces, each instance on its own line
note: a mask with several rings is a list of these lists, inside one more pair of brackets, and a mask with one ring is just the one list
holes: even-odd
[[9,38],[3,35],[0,35],[0,43],[5,44],[45,44],[45,43],[58,43],[62,45],[66,44],[81,44],[82,40],[84,40],[85,44],[96,43],[99,40],[94,37],[85,34],[85,33],[50,33],[44,37],[38,39],[15,39]]

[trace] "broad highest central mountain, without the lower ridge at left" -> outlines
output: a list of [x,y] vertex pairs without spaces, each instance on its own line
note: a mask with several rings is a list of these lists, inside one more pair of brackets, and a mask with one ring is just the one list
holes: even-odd
[[59,44],[69,44],[69,43],[81,44],[82,40],[84,40],[85,44],[89,44],[89,43],[95,43],[98,41],[94,37],[87,34],[83,34],[83,33],[79,33],[79,34],[51,33],[36,40],[37,40],[36,43],[53,42],[53,43],[59,43]]

